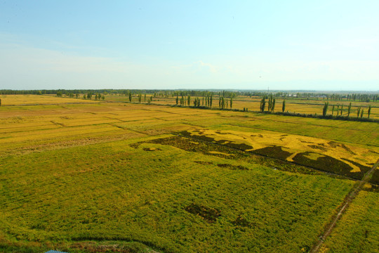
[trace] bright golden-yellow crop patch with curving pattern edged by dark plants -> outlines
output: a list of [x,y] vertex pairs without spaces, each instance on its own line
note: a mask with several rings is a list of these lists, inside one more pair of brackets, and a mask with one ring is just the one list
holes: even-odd
[[306,156],[310,160],[317,160],[319,157],[325,156],[333,157],[340,162],[349,164],[352,167],[350,171],[352,173],[361,172],[361,168],[357,164],[370,167],[378,160],[378,153],[373,153],[365,148],[294,134],[281,134],[272,131],[260,131],[259,134],[251,134],[244,131],[211,129],[195,129],[188,131],[188,133],[195,138],[203,138],[204,136],[213,138],[215,142],[223,145],[244,145],[245,151],[254,152],[268,148],[268,155],[270,155],[272,147],[280,147],[281,150],[288,153],[285,159],[289,162],[294,162],[293,158],[300,153],[309,153]]

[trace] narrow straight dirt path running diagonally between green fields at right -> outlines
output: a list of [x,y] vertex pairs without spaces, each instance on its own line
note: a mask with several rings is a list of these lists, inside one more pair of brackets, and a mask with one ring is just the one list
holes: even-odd
[[364,184],[367,183],[368,180],[370,180],[371,175],[373,174],[373,171],[376,169],[376,167],[378,167],[378,165],[379,165],[379,160],[376,161],[373,167],[369,171],[366,172],[366,174],[364,175],[364,178],[355,184],[354,188],[352,188],[350,193],[345,197],[343,204],[340,205],[340,207],[338,208],[337,214],[333,216],[333,219],[331,220],[331,222],[328,224],[328,226],[326,226],[324,233],[322,233],[319,236],[319,241],[312,247],[312,249],[310,249],[310,253],[319,252],[321,245],[324,243],[328,235],[331,234],[331,231],[333,231],[333,228],[335,227],[335,223],[337,223],[338,219],[340,219],[340,216],[342,216],[343,212],[345,212],[345,209],[347,209],[350,202],[352,202],[352,200],[354,200],[354,198],[357,197],[359,191],[362,189]]

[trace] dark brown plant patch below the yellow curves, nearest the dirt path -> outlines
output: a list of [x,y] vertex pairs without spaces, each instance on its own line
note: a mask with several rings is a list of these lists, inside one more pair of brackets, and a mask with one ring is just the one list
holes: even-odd
[[364,176],[363,172],[350,172],[353,168],[349,164],[333,157],[324,155],[324,157],[318,157],[317,160],[312,160],[307,157],[307,155],[310,154],[312,154],[312,152],[298,153],[295,157],[293,157],[293,161],[307,167],[312,167],[341,176],[347,176],[352,179],[362,179]]

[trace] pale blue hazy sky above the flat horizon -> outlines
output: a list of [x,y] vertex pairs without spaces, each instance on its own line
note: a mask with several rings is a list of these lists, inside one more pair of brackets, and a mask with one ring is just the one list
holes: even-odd
[[0,89],[379,90],[379,1],[1,1]]

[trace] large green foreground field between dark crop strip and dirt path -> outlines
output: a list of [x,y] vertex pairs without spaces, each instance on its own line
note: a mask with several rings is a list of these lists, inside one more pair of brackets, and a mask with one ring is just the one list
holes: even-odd
[[[217,164],[240,163],[128,143],[1,158],[6,240],[138,241],[164,252],[298,252],[312,245],[352,186],[253,164],[222,168]],[[204,208],[204,216],[188,212],[192,204]],[[208,217],[213,209],[215,219]]]

